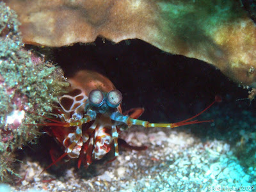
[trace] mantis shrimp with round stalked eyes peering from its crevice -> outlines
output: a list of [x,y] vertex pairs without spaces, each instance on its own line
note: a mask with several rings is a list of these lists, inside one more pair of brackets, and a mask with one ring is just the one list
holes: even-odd
[[[115,147],[115,158],[118,156],[118,133],[131,127],[180,127],[182,125],[212,122],[212,120],[193,120],[196,116],[210,108],[216,99],[203,111],[191,118],[173,124],[154,124],[137,118],[143,108],[134,108],[122,113],[122,93],[116,90],[111,81],[101,74],[81,70],[69,79],[70,92],[59,98],[60,108],[56,109],[58,120],[45,117],[47,132],[62,145],[64,153],[54,160],[46,169],[56,164],[63,157],[78,158],[86,167],[92,161],[102,159],[111,147]],[[131,113],[130,115],[127,115]],[[114,159],[115,159],[114,158]]]

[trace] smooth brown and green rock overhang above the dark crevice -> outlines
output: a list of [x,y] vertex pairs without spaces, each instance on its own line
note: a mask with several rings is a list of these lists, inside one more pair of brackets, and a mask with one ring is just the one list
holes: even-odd
[[256,28],[240,1],[5,1],[19,15],[26,44],[140,38],[256,86]]

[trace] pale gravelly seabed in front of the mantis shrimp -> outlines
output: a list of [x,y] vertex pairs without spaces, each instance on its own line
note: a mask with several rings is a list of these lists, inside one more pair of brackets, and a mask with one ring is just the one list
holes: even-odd
[[[211,126],[205,126],[211,129]],[[76,170],[65,165],[59,175],[42,172],[40,164],[27,159],[20,172],[27,172],[17,191],[239,191],[255,189],[255,169],[244,172],[225,141],[202,143],[192,134],[155,129],[133,131],[125,139],[136,145],[147,145],[142,152],[126,151],[111,164],[94,164],[93,168]],[[197,127],[198,128],[198,127]],[[136,130],[136,131],[135,131]],[[157,131],[158,130],[158,131]],[[254,185],[254,186],[253,186]]]

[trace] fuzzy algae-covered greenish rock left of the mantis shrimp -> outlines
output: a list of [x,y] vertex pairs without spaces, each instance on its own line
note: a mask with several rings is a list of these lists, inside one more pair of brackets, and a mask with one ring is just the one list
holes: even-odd
[[[3,181],[8,173],[13,173],[15,149],[40,135],[38,127],[25,124],[42,122],[42,117],[34,113],[51,112],[68,83],[60,68],[24,49],[17,15],[2,2],[0,42],[0,179]],[[6,123],[13,111],[25,111],[22,124]]]

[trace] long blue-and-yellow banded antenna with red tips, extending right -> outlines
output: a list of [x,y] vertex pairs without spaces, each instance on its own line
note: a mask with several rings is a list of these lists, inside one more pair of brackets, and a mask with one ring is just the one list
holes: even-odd
[[[198,121],[198,120],[193,120],[193,118],[196,118],[196,116],[201,115],[202,113],[204,113],[204,111],[211,108],[211,106],[215,102],[221,102],[221,98],[216,96],[214,102],[212,102],[207,108],[205,108],[200,113],[196,114],[195,116],[192,116],[191,118],[188,118],[186,120],[183,120],[183,121],[177,122],[177,123],[173,123],[173,124],[154,124],[154,123],[150,123],[150,122],[143,121],[143,120],[136,120],[134,118],[131,118],[130,116],[124,116],[119,112],[111,113],[110,118],[112,120],[117,121],[117,122],[123,122],[124,124],[127,124],[128,127],[131,127],[131,125],[141,125],[141,126],[146,127],[146,128],[148,128],[148,127],[170,127],[170,128],[174,128],[174,127],[180,127],[182,125],[201,124],[201,123],[205,123],[205,122],[213,122],[213,120]],[[192,121],[189,122],[189,120],[192,120]]]

